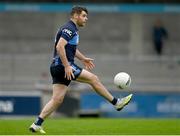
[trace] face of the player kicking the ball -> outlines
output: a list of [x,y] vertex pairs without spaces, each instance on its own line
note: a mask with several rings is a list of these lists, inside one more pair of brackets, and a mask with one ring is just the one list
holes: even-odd
[[82,11],[80,15],[77,15],[77,25],[79,27],[85,26],[87,20],[88,20],[88,17],[87,17],[87,13],[85,11]]

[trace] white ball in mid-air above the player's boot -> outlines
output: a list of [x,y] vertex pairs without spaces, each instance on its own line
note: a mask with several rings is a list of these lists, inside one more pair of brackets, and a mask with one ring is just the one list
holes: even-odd
[[120,89],[126,89],[131,85],[131,77],[125,72],[120,72],[114,77],[114,84]]

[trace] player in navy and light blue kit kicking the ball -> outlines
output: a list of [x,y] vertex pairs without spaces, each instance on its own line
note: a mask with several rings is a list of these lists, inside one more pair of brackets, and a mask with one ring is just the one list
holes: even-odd
[[[30,126],[30,131],[32,132],[45,133],[41,125],[44,119],[63,102],[71,80],[90,84],[99,95],[112,103],[117,110],[121,110],[131,100],[132,94],[122,99],[113,97],[98,77],[88,71],[95,67],[93,59],[84,56],[77,49],[79,42],[78,27],[85,26],[88,20],[87,15],[88,11],[86,8],[73,7],[70,21],[62,26],[56,35],[54,58],[50,67],[53,80],[53,95],[37,120]],[[74,64],[74,57],[78,58],[87,70]]]

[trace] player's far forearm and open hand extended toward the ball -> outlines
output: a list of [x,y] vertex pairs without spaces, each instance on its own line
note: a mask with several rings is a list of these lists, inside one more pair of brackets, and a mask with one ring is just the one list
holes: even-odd
[[85,55],[83,55],[78,49],[76,50],[75,54],[76,58],[78,58],[85,66],[86,69],[93,69],[95,67],[93,63],[93,59],[87,58]]

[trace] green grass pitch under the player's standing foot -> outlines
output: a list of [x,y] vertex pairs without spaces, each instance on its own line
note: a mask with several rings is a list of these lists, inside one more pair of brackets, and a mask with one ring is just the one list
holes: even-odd
[[[33,120],[1,119],[0,134],[31,134]],[[180,119],[48,119],[44,129],[49,135],[180,135]]]

